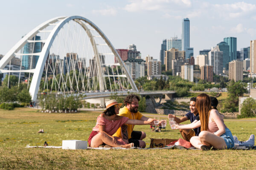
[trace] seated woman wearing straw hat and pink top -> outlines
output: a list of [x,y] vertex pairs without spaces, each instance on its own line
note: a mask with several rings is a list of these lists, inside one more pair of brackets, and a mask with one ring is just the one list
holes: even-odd
[[133,147],[134,144],[127,144],[119,137],[112,135],[123,124],[130,125],[153,125],[154,119],[151,121],[133,120],[127,117],[118,116],[119,108],[122,103],[117,103],[116,100],[110,100],[106,103],[106,110],[97,118],[96,126],[89,136],[88,144],[90,147],[99,147],[102,144],[108,144],[112,147]]

